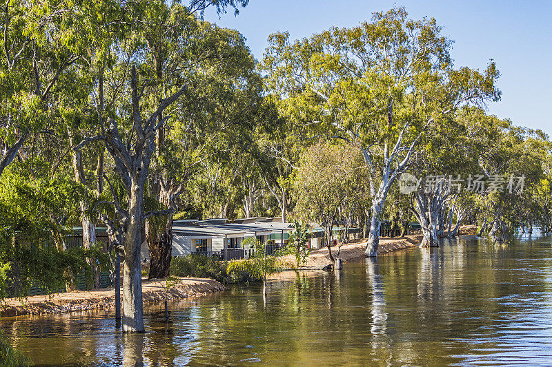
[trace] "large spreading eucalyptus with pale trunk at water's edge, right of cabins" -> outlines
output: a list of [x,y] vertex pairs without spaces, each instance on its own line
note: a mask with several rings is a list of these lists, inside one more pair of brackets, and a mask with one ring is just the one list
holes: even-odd
[[356,145],[371,175],[371,230],[366,254],[377,254],[383,207],[432,125],[466,103],[496,101],[498,76],[455,69],[451,41],[435,19],[408,19],[404,8],[376,12],[371,22],[331,28],[290,43],[272,34],[262,70],[279,107],[304,134]]

